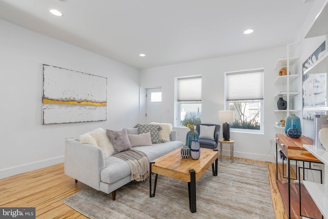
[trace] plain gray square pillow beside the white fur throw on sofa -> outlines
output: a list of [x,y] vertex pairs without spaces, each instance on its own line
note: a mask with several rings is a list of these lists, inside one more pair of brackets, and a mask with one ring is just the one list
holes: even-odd
[[115,154],[118,152],[131,149],[131,143],[127,134],[127,130],[106,130],[108,138],[111,140],[115,150]]

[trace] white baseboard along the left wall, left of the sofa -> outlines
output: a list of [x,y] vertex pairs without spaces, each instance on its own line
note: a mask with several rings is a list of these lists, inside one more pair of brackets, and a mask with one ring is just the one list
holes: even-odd
[[38,162],[34,162],[34,163],[24,164],[24,165],[20,165],[20,166],[15,166],[15,167],[7,168],[7,169],[1,169],[0,170],[0,179],[15,176],[20,173],[24,173],[24,172],[28,172],[28,171],[32,171],[32,170],[52,166],[55,164],[60,164],[60,163],[64,163],[64,156],[52,158],[52,159],[48,159],[48,160],[43,160],[43,161],[38,161]]

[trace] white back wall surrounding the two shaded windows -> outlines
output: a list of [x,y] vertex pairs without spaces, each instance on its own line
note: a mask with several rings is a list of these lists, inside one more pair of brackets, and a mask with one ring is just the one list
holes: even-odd
[[[161,86],[162,88],[162,122],[174,124],[174,78],[202,75],[202,123],[218,123],[218,111],[224,109],[224,72],[264,68],[264,135],[231,133],[235,140],[234,155],[254,160],[275,161],[273,151],[275,144],[277,106],[274,96],[278,87],[274,80],[278,72],[274,70],[277,59],[286,57],[286,47],[240,54],[234,56],[206,59],[168,65],[165,67],[141,70],[140,87]],[[192,87],[190,88],[192,89]],[[220,124],[221,125],[221,124]],[[179,133],[177,139],[185,142],[186,127],[174,127]],[[222,137],[222,132],[220,132]],[[228,155],[228,146],[225,154]]]

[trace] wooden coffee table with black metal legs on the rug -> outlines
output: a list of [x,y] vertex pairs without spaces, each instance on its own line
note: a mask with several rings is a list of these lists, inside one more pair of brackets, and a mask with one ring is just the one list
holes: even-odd
[[[173,179],[188,182],[189,208],[196,212],[196,181],[212,165],[213,176],[217,176],[218,151],[208,148],[200,148],[200,158],[193,160],[191,157],[182,159],[180,148],[150,162],[149,196],[155,196],[158,174]],[[215,165],[214,165],[215,163]],[[152,192],[152,176],[156,173],[154,191]]]

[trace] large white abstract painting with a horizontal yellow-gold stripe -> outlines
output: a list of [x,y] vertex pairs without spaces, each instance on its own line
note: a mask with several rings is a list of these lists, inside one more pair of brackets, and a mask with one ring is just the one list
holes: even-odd
[[43,124],[106,119],[107,78],[43,64]]

